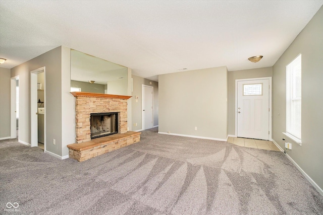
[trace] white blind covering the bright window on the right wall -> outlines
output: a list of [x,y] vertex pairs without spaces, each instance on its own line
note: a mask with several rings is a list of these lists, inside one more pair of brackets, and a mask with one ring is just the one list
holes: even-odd
[[302,55],[286,66],[286,132],[302,138]]

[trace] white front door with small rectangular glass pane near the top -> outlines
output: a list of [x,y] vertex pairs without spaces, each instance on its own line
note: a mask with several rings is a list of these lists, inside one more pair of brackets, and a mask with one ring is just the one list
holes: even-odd
[[270,139],[270,80],[237,82],[237,136]]

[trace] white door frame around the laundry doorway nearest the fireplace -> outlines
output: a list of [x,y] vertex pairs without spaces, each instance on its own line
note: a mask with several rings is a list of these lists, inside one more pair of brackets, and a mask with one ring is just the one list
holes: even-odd
[[[44,73],[45,83],[45,66],[30,71],[30,145],[31,147],[38,146],[38,99],[37,99],[37,74]],[[44,92],[44,107],[46,102],[46,94]],[[46,151],[46,109],[44,113],[44,152]]]

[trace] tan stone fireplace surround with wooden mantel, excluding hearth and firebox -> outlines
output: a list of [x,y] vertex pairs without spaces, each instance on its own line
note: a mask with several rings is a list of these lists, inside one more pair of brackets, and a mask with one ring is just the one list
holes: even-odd
[[119,112],[118,133],[127,132],[127,99],[120,96],[99,93],[71,92],[75,96],[75,131],[76,143],[90,141],[91,113]]

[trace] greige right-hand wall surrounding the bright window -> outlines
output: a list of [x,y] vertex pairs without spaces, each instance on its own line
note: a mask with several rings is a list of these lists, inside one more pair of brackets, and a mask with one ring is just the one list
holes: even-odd
[[323,7],[273,66],[273,139],[284,149],[286,65],[302,54],[302,146],[291,139],[287,154],[323,189]]

